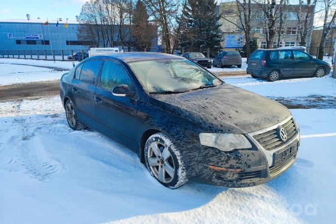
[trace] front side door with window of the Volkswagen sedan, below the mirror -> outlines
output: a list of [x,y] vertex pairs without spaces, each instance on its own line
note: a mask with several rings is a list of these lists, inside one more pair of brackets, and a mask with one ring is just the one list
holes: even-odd
[[[115,86],[126,84],[132,94],[130,96],[114,96]],[[114,61],[106,60],[103,64],[100,82],[94,94],[95,119],[97,128],[117,141],[133,147],[136,142],[137,93],[135,85],[125,68]]]

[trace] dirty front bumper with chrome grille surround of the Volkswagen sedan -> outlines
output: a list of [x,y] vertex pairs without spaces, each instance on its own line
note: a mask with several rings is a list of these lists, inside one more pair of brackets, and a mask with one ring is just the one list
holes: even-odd
[[[215,151],[198,164],[194,179],[223,187],[251,187],[266,183],[285,172],[291,167],[296,158],[300,145],[300,133],[296,123],[296,133],[288,142],[272,150],[266,150],[253,138],[256,133],[272,130],[274,127],[286,124],[289,117],[283,122],[276,124],[267,130],[260,130],[246,135],[253,148],[251,150],[235,150],[233,152]],[[205,151],[204,154],[208,154]],[[199,158],[204,158],[202,155]]]

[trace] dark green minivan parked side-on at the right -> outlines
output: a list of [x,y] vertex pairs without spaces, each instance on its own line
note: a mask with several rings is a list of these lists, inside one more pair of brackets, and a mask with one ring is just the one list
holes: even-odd
[[323,77],[330,65],[301,50],[256,50],[248,60],[247,74],[273,82],[288,77]]

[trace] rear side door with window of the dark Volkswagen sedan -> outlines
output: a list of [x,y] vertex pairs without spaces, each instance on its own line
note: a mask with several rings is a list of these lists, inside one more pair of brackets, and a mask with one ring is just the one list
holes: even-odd
[[77,110],[77,116],[79,120],[91,127],[96,125],[93,93],[101,64],[101,60],[90,60],[79,65],[72,79],[71,100]]

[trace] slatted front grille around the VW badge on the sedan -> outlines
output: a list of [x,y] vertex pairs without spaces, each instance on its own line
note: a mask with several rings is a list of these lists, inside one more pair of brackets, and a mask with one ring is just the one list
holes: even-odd
[[[282,125],[283,128],[287,131],[287,141],[290,141],[291,138],[293,138],[296,134],[296,128],[293,119],[291,118],[288,122]],[[276,128],[266,131],[261,134],[253,135],[253,138],[258,141],[258,143],[264,147],[265,150],[273,150],[275,148],[278,148],[286,142],[283,142],[279,139]]]

